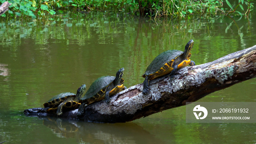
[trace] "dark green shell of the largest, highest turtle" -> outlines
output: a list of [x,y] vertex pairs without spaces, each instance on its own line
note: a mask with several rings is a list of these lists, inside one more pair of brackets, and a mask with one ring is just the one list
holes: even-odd
[[180,50],[167,50],[166,52],[162,52],[148,65],[144,75],[151,75],[157,72],[166,62],[176,59],[181,54],[183,54],[183,52]]

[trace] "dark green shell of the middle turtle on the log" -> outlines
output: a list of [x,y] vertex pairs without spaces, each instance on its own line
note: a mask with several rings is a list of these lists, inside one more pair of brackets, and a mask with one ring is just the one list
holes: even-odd
[[[115,80],[115,78],[116,77],[114,77],[114,76],[102,76],[102,77],[99,77],[97,80],[95,80],[91,84],[91,86],[88,89],[88,91],[86,92],[86,94],[80,100],[83,101],[84,99],[89,99],[89,98],[93,97],[100,90],[102,90],[103,88],[109,86],[109,84],[111,84]],[[111,88],[111,90],[113,88]]]

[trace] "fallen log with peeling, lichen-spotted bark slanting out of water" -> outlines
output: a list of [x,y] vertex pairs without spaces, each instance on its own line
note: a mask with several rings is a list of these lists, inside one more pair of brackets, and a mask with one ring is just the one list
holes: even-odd
[[[105,101],[88,105],[80,120],[91,122],[128,122],[163,110],[184,106],[204,96],[256,77],[256,45],[206,64],[185,67],[173,79],[151,80],[150,94],[143,95],[143,84],[137,84]],[[37,108],[35,108],[37,109]],[[25,110],[25,113],[27,111]],[[77,119],[77,109],[63,117]],[[49,115],[39,112],[37,115]]]

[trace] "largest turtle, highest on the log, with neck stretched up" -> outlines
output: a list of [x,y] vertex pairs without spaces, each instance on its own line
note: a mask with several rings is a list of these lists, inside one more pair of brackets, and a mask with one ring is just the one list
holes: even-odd
[[167,75],[173,77],[178,69],[186,67],[188,65],[196,65],[194,61],[191,61],[191,49],[193,48],[194,41],[191,39],[185,46],[184,52],[180,50],[167,50],[159,54],[148,65],[146,72],[142,75],[145,78],[143,82],[143,94],[148,94],[149,87],[148,81],[157,77]]

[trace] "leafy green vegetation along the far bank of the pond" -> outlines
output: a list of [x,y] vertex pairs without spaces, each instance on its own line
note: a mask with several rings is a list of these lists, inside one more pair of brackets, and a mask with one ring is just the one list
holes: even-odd
[[[0,0],[4,3],[6,0]],[[171,16],[176,19],[190,19],[192,14],[201,18],[211,18],[218,15],[238,13],[248,16],[253,9],[253,0],[236,0],[233,6],[228,0],[226,4],[231,8],[225,11],[223,0],[10,0],[11,16],[18,18],[45,18],[46,14],[62,14],[64,11],[123,11],[130,14],[140,14],[157,18]],[[233,4],[232,3],[232,4]],[[234,8],[234,6],[236,6]],[[241,10],[238,11],[238,7]],[[244,8],[246,7],[246,8]],[[2,16],[6,16],[5,14]]]

